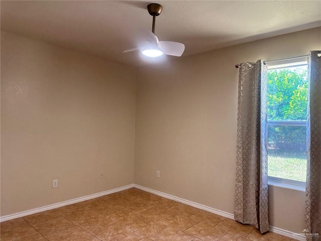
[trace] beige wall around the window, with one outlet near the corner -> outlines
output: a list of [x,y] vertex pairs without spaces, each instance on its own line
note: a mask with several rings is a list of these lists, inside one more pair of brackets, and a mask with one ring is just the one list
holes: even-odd
[[[320,44],[315,28],[140,67],[135,184],[233,213],[235,64],[305,55]],[[269,204],[271,225],[302,231],[304,192],[271,187]]]

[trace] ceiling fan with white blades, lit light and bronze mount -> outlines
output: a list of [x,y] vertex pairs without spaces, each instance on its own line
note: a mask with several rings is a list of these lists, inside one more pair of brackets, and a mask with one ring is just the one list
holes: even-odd
[[149,4],[147,6],[148,13],[152,16],[152,30],[142,29],[141,36],[145,37],[145,43],[142,47],[126,49],[123,53],[139,50],[141,53],[148,57],[158,57],[163,54],[172,56],[182,56],[185,45],[172,41],[158,41],[155,35],[155,19],[156,16],[162,13],[163,7],[159,4]]

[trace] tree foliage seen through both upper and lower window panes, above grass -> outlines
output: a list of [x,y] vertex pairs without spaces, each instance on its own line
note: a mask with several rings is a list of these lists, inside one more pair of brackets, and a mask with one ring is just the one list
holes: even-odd
[[[307,110],[307,67],[293,67],[268,71],[267,111],[273,121],[304,121]],[[302,152],[306,127],[269,126],[268,142],[279,150]],[[280,145],[287,144],[281,148]],[[305,151],[303,150],[303,155]],[[288,153],[286,154],[288,155]]]

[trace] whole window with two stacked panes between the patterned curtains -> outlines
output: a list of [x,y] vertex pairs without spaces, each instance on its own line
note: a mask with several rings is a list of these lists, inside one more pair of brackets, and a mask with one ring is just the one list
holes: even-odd
[[307,63],[268,67],[269,184],[304,189]]

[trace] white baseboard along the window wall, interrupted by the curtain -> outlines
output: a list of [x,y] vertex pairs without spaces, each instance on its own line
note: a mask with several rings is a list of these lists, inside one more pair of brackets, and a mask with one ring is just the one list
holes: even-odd
[[[234,219],[234,215],[232,213],[224,212],[224,211],[212,208],[212,207],[208,207],[208,206],[196,203],[196,202],[192,202],[192,201],[180,198],[180,197],[169,195],[169,194],[164,193],[164,192],[159,192],[159,191],[156,191],[156,190],[153,190],[153,189],[150,189],[150,188],[147,188],[147,187],[143,187],[143,186],[140,186],[140,185],[134,184],[133,186],[135,188],[140,189],[140,190],[143,190],[143,191],[146,191],[146,192],[150,192],[150,193],[153,193],[153,194],[161,196],[161,197],[165,197],[165,198],[168,198],[168,199],[171,199],[171,200],[174,200],[174,201],[178,201],[178,202],[190,205],[192,207],[196,207],[196,208],[199,208],[199,209],[202,209],[202,210],[205,210],[205,211],[209,211],[209,212],[221,215],[223,217],[228,217],[228,218],[231,218],[231,219],[235,220]],[[293,232],[288,231],[288,230],[284,230],[284,229],[281,229],[281,228],[278,228],[278,227],[270,226],[269,230],[271,232],[275,232],[275,233],[278,233],[278,234],[281,234],[281,235],[284,235],[284,236],[287,236],[287,237],[290,237],[290,238],[294,238],[294,239],[297,239],[297,240],[300,240],[300,241],[306,241],[304,236],[294,235]]]

